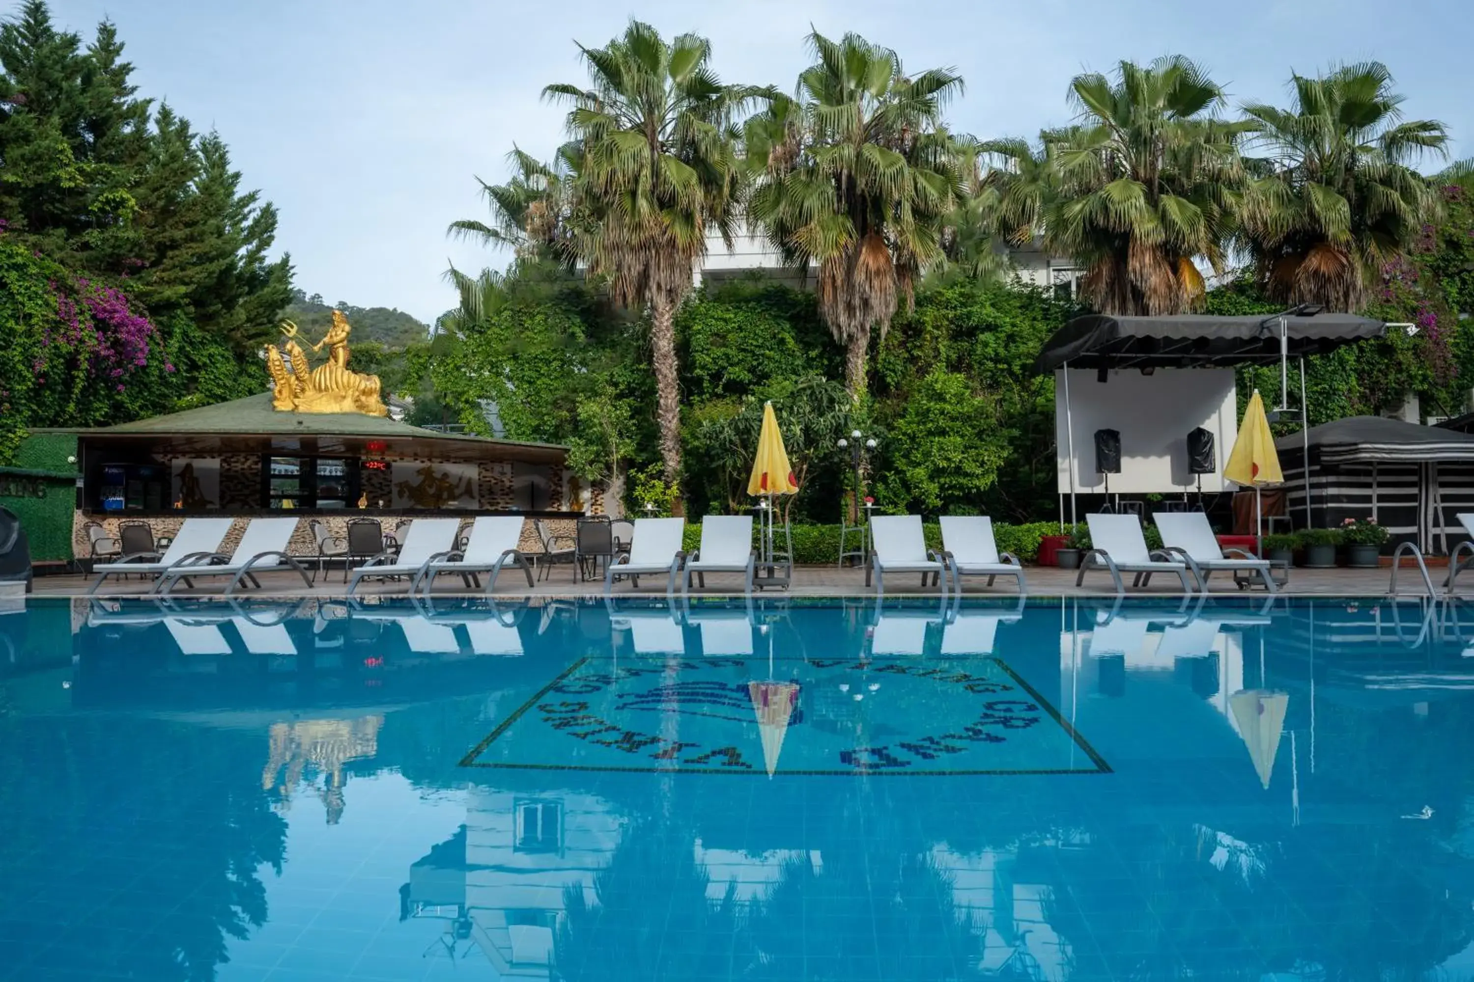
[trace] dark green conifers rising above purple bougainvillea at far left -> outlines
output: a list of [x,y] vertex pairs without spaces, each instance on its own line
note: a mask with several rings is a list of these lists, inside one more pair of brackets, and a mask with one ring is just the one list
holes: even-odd
[[0,27],[0,219],[77,272],[122,283],[156,321],[254,350],[290,299],[276,209],[218,134],[137,96],[116,28],[85,49],[44,0]]

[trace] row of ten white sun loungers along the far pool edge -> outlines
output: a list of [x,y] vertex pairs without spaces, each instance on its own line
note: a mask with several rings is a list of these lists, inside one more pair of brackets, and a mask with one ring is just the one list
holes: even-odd
[[[1200,512],[1159,514],[1157,529],[1164,546],[1147,548],[1141,521],[1135,515],[1089,515],[1091,551],[1080,564],[1076,584],[1092,570],[1110,573],[1116,592],[1125,592],[1122,574],[1132,574],[1134,586],[1145,586],[1153,574],[1176,576],[1184,593],[1207,589],[1215,571],[1250,571],[1257,574],[1265,589],[1275,592],[1269,564],[1243,552],[1225,552]],[[259,586],[256,574],[295,571],[304,584],[311,580],[302,564],[287,554],[296,518],[254,518],[246,526],[239,545],[230,555],[220,545],[230,530],[230,518],[189,518],[168,551],[155,562],[122,561],[94,568],[96,593],[112,576],[143,574],[153,577],[152,593],[167,596],[178,583],[195,586],[195,580],[227,579],[224,589],[233,595],[242,583]],[[532,562],[537,554],[523,552],[523,520],[519,515],[476,518],[464,545],[457,543],[461,529],[458,518],[417,518],[397,552],[373,557],[354,571],[346,592],[352,595],[368,579],[402,579],[408,593],[429,595],[435,580],[444,574],[460,576],[466,587],[481,586],[486,577],[486,592],[492,592],[497,577],[514,567],[531,587]],[[945,596],[961,593],[963,577],[988,577],[992,586],[998,577],[1011,577],[1019,593],[1027,593],[1023,564],[1017,557],[998,551],[992,520],[985,515],[948,515],[940,520],[942,548],[930,549],[921,529],[920,515],[877,515],[870,520],[873,552],[865,571],[867,586],[874,579],[876,593],[884,593],[886,577],[920,574],[921,586],[936,586]],[[604,592],[610,593],[618,580],[628,579],[635,587],[640,577],[662,577],[666,593],[677,583],[688,593],[691,582],[706,584],[708,573],[740,573],[744,592],[753,589],[756,552],[752,546],[750,515],[709,515],[702,521],[700,546],[684,552],[684,518],[640,518],[629,552],[610,562],[604,576]]]

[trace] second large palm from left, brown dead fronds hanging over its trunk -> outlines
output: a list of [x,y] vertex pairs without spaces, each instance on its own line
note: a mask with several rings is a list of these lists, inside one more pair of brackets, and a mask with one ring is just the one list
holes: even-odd
[[961,180],[942,125],[963,91],[949,69],[915,78],[890,49],[856,34],[809,34],[818,62],[797,99],[772,99],[746,131],[758,187],[749,212],[784,261],[818,264],[820,315],[845,346],[845,383],[865,390],[871,331],[890,325],[901,296],[942,258],[943,218]]

